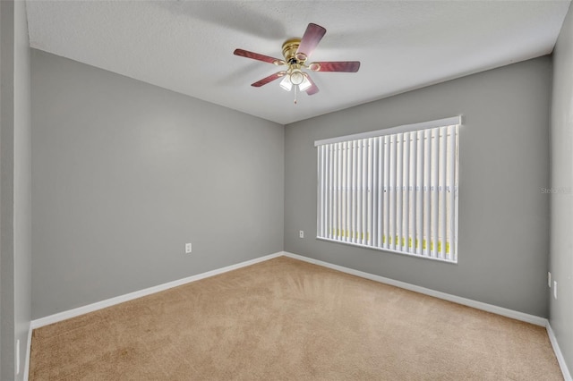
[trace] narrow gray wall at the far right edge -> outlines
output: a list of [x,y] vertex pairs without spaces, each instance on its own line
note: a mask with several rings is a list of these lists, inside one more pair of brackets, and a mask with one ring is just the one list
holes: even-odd
[[553,52],[551,127],[551,257],[550,270],[557,281],[557,297],[550,300],[550,323],[573,371],[573,11],[561,28]]

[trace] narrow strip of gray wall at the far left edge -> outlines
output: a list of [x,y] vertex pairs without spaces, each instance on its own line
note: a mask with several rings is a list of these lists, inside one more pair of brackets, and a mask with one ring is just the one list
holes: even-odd
[[[30,48],[24,2],[0,2],[0,378],[24,379],[30,329]],[[20,371],[14,356],[20,340]]]

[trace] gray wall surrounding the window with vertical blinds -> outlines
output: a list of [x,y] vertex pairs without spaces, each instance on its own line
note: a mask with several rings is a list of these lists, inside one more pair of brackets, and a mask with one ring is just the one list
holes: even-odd
[[[544,56],[287,125],[285,250],[547,317],[551,70]],[[458,114],[457,265],[313,238],[314,140]]]

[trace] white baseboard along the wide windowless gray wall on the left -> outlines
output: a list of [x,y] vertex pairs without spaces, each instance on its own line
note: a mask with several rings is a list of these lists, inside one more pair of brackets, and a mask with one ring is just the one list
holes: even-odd
[[279,251],[274,254],[269,254],[268,256],[254,258],[241,263],[237,263],[235,265],[221,267],[202,274],[188,276],[184,279],[168,282],[167,284],[159,284],[157,286],[146,288],[140,291],[126,293],[124,295],[116,296],[115,298],[107,299],[105,301],[98,301],[92,304],[88,304],[86,306],[78,307],[77,309],[69,309],[67,311],[58,312],[54,315],[50,315],[45,318],[37,318],[32,320],[30,325],[32,329],[38,328],[40,326],[47,326],[49,324],[54,324],[68,318],[75,318],[80,315],[87,314],[89,312],[97,311],[98,309],[105,309],[107,307],[114,306],[115,304],[123,303],[124,301],[133,301],[133,299],[138,299],[141,298],[142,296],[147,296],[155,292],[165,291],[182,284],[188,284],[204,278],[208,278],[213,275],[227,273],[227,271],[236,270],[237,268],[241,267],[251,266],[254,265],[255,263],[263,262],[265,260],[277,258],[283,255],[285,255],[285,253],[283,251]]

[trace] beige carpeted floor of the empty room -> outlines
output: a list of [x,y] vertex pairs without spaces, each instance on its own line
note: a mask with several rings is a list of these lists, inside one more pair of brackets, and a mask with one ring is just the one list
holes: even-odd
[[34,330],[30,380],[560,380],[543,327],[280,257]]

